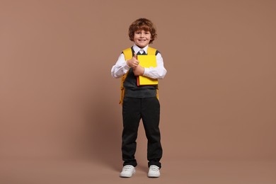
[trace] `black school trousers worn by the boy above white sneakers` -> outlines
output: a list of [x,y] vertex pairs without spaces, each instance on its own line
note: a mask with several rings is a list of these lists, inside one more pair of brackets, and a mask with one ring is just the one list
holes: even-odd
[[137,166],[135,159],[136,139],[139,122],[142,119],[147,145],[148,166],[156,165],[161,168],[162,146],[160,142],[160,104],[153,98],[124,98],[122,104],[123,131],[122,131],[122,160],[123,166]]

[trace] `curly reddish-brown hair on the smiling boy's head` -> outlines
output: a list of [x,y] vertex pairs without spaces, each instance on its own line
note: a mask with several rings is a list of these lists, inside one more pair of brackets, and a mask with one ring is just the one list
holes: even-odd
[[146,18],[138,18],[136,21],[134,21],[128,30],[128,35],[130,37],[130,41],[134,41],[134,32],[137,30],[144,30],[149,31],[151,33],[151,40],[149,43],[153,43],[154,39],[157,38],[156,34],[156,28],[154,28],[154,23],[149,21],[149,19]]

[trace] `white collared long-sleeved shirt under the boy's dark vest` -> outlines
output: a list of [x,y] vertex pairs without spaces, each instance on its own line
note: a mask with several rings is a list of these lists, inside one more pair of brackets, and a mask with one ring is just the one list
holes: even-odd
[[[146,45],[146,47],[141,49],[137,45],[134,44],[133,50],[136,54],[138,52],[140,52],[142,54],[142,50],[144,50],[144,52],[146,52],[146,54],[147,54],[148,47],[149,47],[149,45]],[[151,79],[163,79],[166,76],[167,70],[164,67],[163,58],[160,53],[158,53],[156,55],[156,63],[157,63],[157,67],[144,68],[143,76],[148,76]],[[112,67],[111,75],[114,78],[119,78],[123,74],[126,74],[129,69],[130,69],[130,66],[127,65],[127,62],[125,60],[125,55],[122,53],[122,54],[120,54],[116,64]]]

